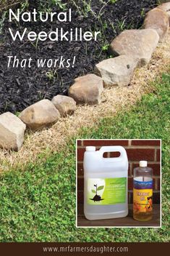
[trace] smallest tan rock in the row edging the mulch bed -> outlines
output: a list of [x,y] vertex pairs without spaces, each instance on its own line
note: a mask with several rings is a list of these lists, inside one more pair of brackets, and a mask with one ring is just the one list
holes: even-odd
[[61,116],[67,116],[75,112],[76,102],[72,97],[67,97],[64,95],[56,95],[51,102],[58,109]]

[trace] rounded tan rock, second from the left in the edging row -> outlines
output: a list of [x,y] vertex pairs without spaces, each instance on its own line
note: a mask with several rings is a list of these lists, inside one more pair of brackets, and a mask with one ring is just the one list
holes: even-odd
[[30,129],[41,129],[59,120],[59,111],[50,100],[41,100],[20,113],[20,119]]

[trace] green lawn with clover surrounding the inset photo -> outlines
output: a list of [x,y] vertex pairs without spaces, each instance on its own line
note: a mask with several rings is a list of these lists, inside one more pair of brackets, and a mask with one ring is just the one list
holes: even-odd
[[[170,75],[130,111],[81,129],[80,138],[161,138],[162,228],[75,228],[75,138],[46,163],[0,177],[0,241],[169,241]],[[40,160],[43,162],[43,153]]]

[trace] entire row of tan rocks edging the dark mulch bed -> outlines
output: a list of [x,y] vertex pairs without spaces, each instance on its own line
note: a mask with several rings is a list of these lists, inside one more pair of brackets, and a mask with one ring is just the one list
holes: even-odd
[[145,17],[143,29],[123,31],[111,42],[114,58],[95,65],[94,74],[75,79],[69,96],[57,95],[51,101],[41,100],[25,108],[20,116],[0,115],[0,147],[19,151],[26,127],[37,130],[55,124],[61,117],[75,112],[77,104],[101,103],[104,87],[128,86],[135,68],[147,64],[169,29],[170,2],[152,9]]

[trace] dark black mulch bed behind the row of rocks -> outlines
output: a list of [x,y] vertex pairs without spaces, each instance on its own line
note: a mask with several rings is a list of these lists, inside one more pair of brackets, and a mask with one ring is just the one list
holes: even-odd
[[[80,15],[72,1],[62,2],[67,4],[67,9],[72,8],[72,23],[21,22],[17,24],[9,23],[6,19],[0,35],[0,113],[4,111],[16,113],[43,98],[51,99],[57,94],[67,95],[68,88],[77,76],[93,72],[95,63],[108,57],[107,44],[124,29],[140,28],[145,12],[156,6],[156,0],[118,0],[114,4],[110,1],[106,6],[103,3],[108,1],[92,0],[93,13],[88,12],[88,17],[85,17]],[[81,0],[75,2],[81,9],[85,9],[85,4]],[[33,8],[38,8],[38,1],[30,1],[29,10]],[[102,15],[98,19],[97,16],[101,10]],[[114,24],[114,28],[110,23]],[[59,27],[59,25],[65,31],[80,27],[85,28],[85,31],[101,31],[102,36],[98,41],[51,42],[46,40],[38,41],[38,44],[33,46],[26,37],[22,42],[19,39],[12,41],[9,35],[9,28],[12,28],[13,32],[23,31],[26,26],[28,31],[38,33],[55,31],[56,26]],[[37,68],[35,65],[31,68],[7,68],[9,55],[16,55],[19,59],[32,57],[34,61],[38,58],[58,59],[61,55],[66,59],[73,59],[76,56],[76,61],[73,68],[58,68],[55,72],[49,68]],[[53,73],[51,79],[48,72]]]

